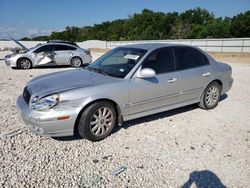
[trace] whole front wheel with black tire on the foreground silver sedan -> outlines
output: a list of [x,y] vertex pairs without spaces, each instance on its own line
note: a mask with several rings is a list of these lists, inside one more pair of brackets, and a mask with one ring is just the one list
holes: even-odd
[[110,102],[90,105],[81,115],[78,133],[90,141],[100,141],[109,136],[116,125],[117,112]]

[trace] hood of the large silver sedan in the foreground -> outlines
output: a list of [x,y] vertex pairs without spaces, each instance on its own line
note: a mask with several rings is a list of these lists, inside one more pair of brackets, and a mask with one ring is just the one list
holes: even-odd
[[27,87],[32,95],[43,97],[72,89],[108,84],[120,79],[90,72],[85,69],[50,73],[33,78]]

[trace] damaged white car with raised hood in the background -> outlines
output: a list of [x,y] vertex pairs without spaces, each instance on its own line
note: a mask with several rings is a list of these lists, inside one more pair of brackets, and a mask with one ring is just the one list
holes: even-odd
[[90,50],[80,48],[73,42],[48,41],[28,49],[19,41],[12,40],[21,47],[12,49],[13,54],[5,56],[6,65],[12,68],[30,69],[54,65],[81,67],[92,61]]

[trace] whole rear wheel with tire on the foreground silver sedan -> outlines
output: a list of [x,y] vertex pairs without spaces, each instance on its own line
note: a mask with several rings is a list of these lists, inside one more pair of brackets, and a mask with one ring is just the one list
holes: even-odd
[[215,108],[220,100],[221,89],[218,82],[210,83],[201,96],[199,107],[205,110]]

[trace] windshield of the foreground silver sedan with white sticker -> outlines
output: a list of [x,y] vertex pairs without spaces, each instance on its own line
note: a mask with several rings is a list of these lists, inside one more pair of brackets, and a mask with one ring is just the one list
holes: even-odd
[[119,47],[109,51],[86,67],[104,75],[124,78],[146,54],[147,50]]

